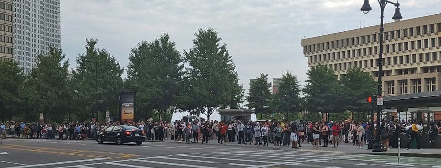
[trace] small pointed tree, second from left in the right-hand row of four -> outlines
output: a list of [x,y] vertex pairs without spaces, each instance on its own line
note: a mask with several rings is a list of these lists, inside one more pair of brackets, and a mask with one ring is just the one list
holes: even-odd
[[297,76],[288,71],[282,75],[277,93],[272,96],[271,106],[275,111],[286,113],[285,117],[288,119],[289,113],[297,114],[297,112],[303,110],[304,103],[300,93],[301,89]]

